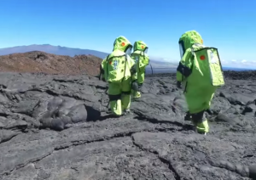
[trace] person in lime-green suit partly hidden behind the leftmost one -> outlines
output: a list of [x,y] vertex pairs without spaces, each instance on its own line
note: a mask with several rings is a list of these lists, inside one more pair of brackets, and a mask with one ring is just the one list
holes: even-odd
[[138,91],[133,92],[133,98],[140,98],[141,97],[140,91],[143,87],[146,66],[149,64],[147,44],[143,41],[134,42],[133,53],[131,53],[131,58],[134,59],[135,64],[137,66],[137,83],[138,83]]

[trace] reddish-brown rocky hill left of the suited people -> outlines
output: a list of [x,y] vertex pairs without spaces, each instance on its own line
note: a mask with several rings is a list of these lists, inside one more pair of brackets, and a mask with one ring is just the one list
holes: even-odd
[[70,57],[32,51],[0,56],[0,71],[96,76],[101,62],[102,59],[93,55]]

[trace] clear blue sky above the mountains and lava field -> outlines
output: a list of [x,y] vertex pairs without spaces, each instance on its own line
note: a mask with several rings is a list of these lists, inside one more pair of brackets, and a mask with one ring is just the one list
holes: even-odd
[[256,66],[255,7],[255,0],[2,0],[0,48],[51,44],[110,53],[122,35],[148,43],[151,56],[178,61],[178,38],[195,30],[224,64]]

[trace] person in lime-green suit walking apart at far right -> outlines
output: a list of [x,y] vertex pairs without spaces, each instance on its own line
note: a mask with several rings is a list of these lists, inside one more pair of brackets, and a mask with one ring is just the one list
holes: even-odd
[[196,132],[207,134],[205,111],[209,110],[216,89],[224,86],[218,49],[204,46],[197,31],[183,33],[178,44],[181,60],[177,66],[177,87],[184,85],[189,108],[186,117],[191,117]]

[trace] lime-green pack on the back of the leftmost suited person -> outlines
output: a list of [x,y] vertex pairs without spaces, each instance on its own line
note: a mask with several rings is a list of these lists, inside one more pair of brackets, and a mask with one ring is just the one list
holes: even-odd
[[[109,57],[109,55],[108,55]],[[123,82],[127,64],[127,55],[113,56],[106,59],[108,82]]]

